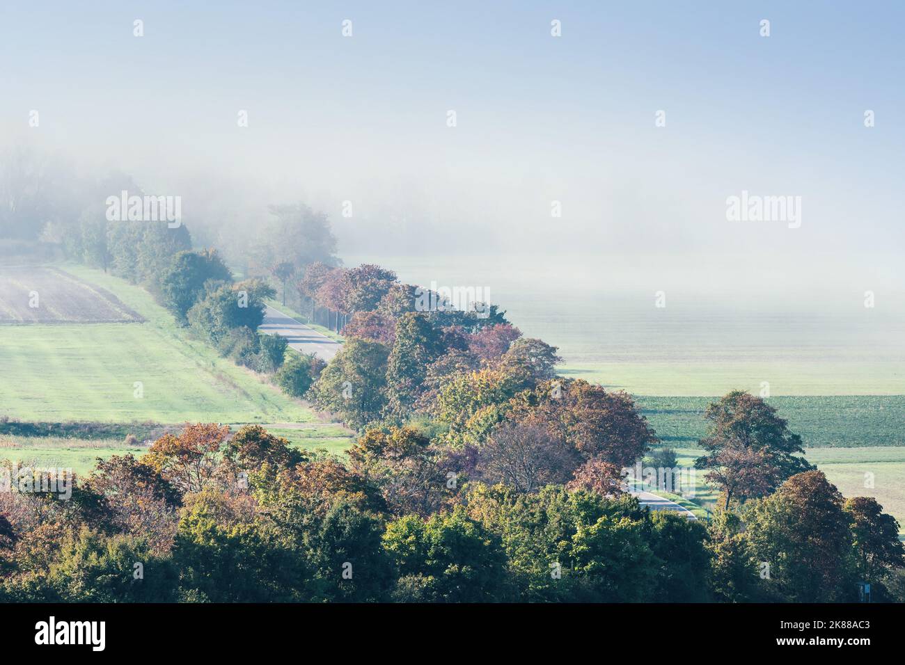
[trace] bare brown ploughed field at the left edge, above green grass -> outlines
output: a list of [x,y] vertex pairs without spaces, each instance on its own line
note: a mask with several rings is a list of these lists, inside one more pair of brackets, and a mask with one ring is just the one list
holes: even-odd
[[130,323],[144,318],[109,290],[57,268],[0,268],[0,324]]

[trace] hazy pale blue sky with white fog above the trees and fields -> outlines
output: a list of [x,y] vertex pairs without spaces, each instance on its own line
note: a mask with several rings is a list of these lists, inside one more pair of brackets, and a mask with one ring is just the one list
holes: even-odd
[[[903,21],[897,2],[5,0],[0,146],[123,169],[183,195],[190,228],[193,205],[254,225],[300,200],[357,255],[902,292]],[[800,197],[800,226],[729,221],[743,191]]]

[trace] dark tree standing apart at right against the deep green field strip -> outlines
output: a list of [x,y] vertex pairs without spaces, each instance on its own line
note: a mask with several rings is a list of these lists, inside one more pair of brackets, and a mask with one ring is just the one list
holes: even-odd
[[708,454],[695,461],[698,469],[711,469],[707,480],[726,495],[763,497],[787,478],[814,469],[803,455],[801,437],[789,432],[786,420],[760,397],[733,391],[707,407],[710,421],[700,446]]

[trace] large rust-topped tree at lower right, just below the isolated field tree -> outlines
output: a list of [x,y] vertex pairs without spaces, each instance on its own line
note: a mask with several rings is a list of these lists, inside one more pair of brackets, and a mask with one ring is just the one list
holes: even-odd
[[746,537],[769,586],[794,603],[853,600],[852,533],[843,497],[822,471],[797,473],[746,512]]

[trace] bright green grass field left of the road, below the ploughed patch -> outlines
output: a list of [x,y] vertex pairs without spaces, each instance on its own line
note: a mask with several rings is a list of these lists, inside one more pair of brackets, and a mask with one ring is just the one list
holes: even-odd
[[102,271],[65,270],[147,320],[0,326],[0,415],[43,422],[316,420],[262,377],[189,338],[148,291]]

